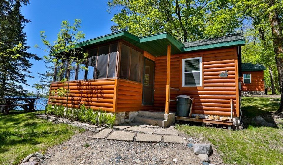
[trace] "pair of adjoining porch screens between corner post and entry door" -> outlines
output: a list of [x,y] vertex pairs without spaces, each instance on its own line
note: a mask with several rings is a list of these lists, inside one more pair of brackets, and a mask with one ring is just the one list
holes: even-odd
[[122,44],[119,78],[141,82],[143,54]]

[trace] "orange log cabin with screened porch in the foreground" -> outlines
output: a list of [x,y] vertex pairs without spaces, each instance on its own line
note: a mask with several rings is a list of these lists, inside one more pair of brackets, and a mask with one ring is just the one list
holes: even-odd
[[[184,120],[227,128],[240,125],[238,68],[243,45],[241,33],[182,43],[167,32],[138,37],[118,31],[83,41],[75,48],[89,57],[70,71],[68,106],[84,104],[115,113],[115,124],[167,127]],[[61,82],[66,74],[56,74],[62,67],[55,68],[50,89],[55,95],[49,103],[66,106],[66,97],[56,96],[58,88],[66,89]],[[192,98],[188,116],[175,116],[178,95]]]

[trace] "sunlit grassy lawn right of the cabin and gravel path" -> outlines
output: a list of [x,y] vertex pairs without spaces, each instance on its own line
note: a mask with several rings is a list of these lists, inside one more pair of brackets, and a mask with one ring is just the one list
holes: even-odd
[[[279,99],[243,97],[243,116],[270,114],[279,107]],[[278,125],[277,125],[278,126]],[[242,131],[180,125],[177,128],[189,136],[202,137],[217,149],[225,164],[278,165],[283,164],[283,130],[249,125]]]

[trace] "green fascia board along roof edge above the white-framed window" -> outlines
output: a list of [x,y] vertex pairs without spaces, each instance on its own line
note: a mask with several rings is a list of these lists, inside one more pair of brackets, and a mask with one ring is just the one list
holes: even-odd
[[220,42],[220,43],[215,43],[215,44],[184,47],[184,51],[195,51],[195,50],[219,48],[219,47],[226,47],[226,46],[243,46],[245,44],[246,44],[246,40],[241,39],[241,40],[236,40],[236,41],[226,41],[226,42]]

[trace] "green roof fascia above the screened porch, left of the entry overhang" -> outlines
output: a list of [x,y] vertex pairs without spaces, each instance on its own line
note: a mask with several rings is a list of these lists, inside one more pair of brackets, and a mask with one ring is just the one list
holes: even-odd
[[[103,42],[114,41],[114,40],[122,39],[122,38],[127,38],[126,39],[127,41],[139,43],[139,37],[138,36],[135,36],[134,34],[131,34],[127,31],[125,31],[125,30],[122,30],[122,31],[117,31],[115,33],[107,34],[107,35],[100,36],[100,37],[97,37],[97,38],[94,38],[94,39],[90,39],[90,40],[80,42],[78,44],[75,44],[72,49],[88,46],[88,45],[91,45],[91,44],[100,44],[100,43],[103,43]],[[63,52],[63,51],[64,50],[60,50],[56,53],[60,53],[60,52]],[[54,53],[55,52],[50,52],[50,54],[54,54]]]

